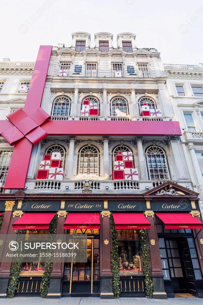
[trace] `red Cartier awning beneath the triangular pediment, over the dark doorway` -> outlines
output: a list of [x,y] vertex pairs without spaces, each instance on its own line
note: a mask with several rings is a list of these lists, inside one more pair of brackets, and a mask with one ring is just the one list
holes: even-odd
[[203,223],[188,213],[155,213],[166,229],[203,229]]

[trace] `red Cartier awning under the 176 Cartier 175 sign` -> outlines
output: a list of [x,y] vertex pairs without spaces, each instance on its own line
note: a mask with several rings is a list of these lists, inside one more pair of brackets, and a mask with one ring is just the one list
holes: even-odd
[[99,229],[99,213],[69,213],[64,223],[65,229]]

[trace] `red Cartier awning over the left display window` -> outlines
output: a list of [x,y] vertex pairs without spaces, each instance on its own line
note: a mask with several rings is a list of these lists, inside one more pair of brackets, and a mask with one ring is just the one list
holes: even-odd
[[55,213],[25,213],[12,226],[14,230],[48,229],[54,215]]

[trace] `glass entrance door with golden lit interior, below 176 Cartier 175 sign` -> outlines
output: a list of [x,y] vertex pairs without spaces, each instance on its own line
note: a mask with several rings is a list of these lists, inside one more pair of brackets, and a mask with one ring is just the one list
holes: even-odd
[[99,230],[77,229],[70,233],[87,234],[87,262],[65,264],[62,295],[99,296]]

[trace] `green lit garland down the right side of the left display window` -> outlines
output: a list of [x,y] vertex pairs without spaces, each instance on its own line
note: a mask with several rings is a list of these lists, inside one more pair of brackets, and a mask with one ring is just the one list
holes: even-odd
[[[57,227],[57,215],[54,216],[52,221],[49,224],[49,234],[55,234],[56,233],[56,227]],[[47,294],[49,292],[49,278],[52,273],[52,263],[45,263],[45,272],[42,276],[42,289],[41,289],[41,297],[46,298]]]

